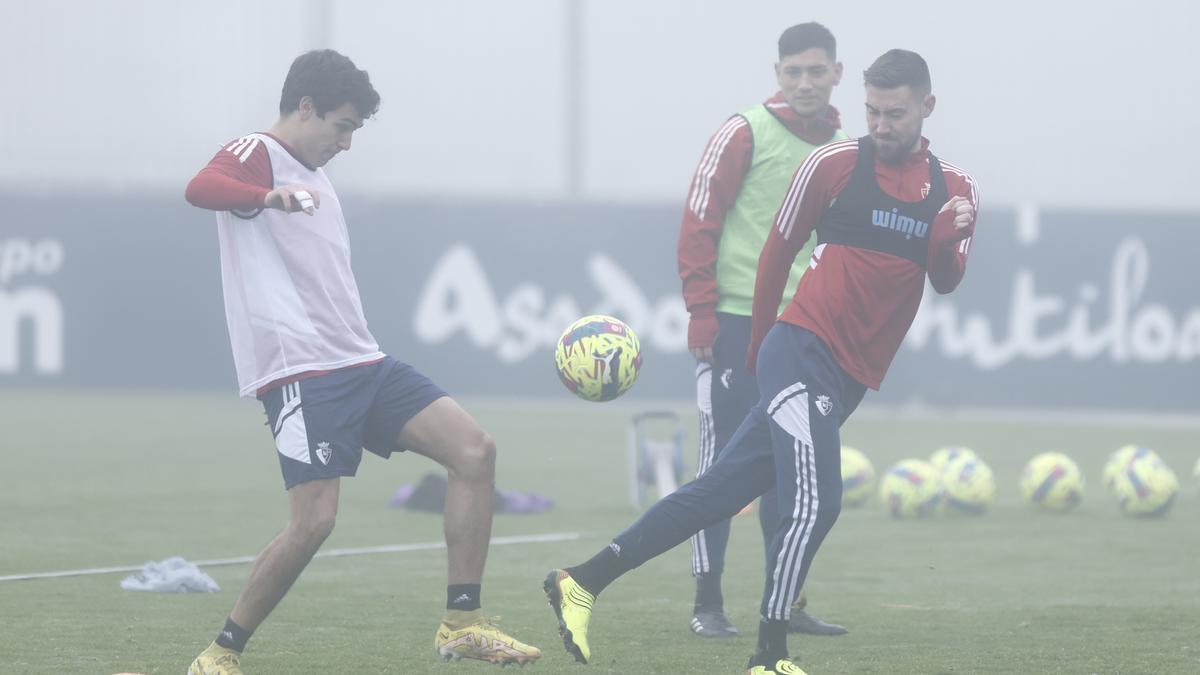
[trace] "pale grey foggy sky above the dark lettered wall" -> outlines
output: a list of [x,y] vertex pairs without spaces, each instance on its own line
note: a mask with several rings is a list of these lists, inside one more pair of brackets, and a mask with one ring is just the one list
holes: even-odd
[[270,126],[299,53],[332,47],[383,96],[330,167],[343,193],[682,204],[708,137],[775,91],[779,34],[818,20],[852,136],[871,60],[925,56],[932,150],[985,208],[1195,210],[1198,19],[1183,0],[8,0],[0,185],[180,195]]

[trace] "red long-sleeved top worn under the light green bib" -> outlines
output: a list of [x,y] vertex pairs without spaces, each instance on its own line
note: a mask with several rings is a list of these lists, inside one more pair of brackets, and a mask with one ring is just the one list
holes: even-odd
[[[808,143],[827,143],[841,129],[836,108],[829,106],[818,118],[797,115],[782,92],[763,102],[775,119]],[[750,169],[754,138],[740,114],[731,117],[704,147],[696,167],[677,246],[683,298],[692,315],[689,346],[712,346],[716,338],[716,253],[725,228],[725,216],[742,190]]]

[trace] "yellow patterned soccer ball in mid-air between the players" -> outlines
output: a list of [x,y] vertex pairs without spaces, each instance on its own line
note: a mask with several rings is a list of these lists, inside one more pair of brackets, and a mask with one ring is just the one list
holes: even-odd
[[611,401],[637,381],[642,346],[618,318],[586,316],[566,327],[554,347],[558,378],[587,401]]

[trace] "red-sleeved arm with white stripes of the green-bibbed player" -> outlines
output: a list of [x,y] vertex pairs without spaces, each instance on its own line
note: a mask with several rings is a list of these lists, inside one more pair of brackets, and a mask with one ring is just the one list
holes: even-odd
[[713,360],[716,341],[716,252],[725,216],[750,167],[750,126],[733,115],[704,147],[688,191],[677,246],[683,299],[688,306],[688,348],[697,360]]

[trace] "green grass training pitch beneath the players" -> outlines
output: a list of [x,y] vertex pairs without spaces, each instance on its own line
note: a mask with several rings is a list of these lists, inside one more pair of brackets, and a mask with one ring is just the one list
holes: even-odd
[[[683,545],[600,598],[595,664],[563,652],[541,579],[577,563],[631,522],[631,408],[470,406],[500,448],[498,484],[552,497],[542,515],[498,515],[496,536],[578,532],[575,542],[496,546],[485,609],[542,647],[529,673],[740,673],[754,650],[762,587],[755,518],[734,525],[725,597],[740,638],[688,631],[692,581]],[[250,555],[282,526],[286,495],[260,410],[233,396],[0,393],[0,577]],[[694,426],[690,413],[684,419]],[[876,470],[942,444],[991,464],[997,503],[982,518],[894,521],[877,503],[844,512],[809,580],[810,609],[850,627],[793,637],[812,675],[828,673],[1200,673],[1200,497],[1195,429],[932,423],[862,417],[844,440]],[[1159,520],[1116,513],[1099,485],[1104,458],[1138,442],[1184,483]],[[689,442],[690,443],[690,442]],[[1016,477],[1036,452],[1084,467],[1087,495],[1069,515],[1031,512]],[[689,462],[694,453],[689,444]],[[392,491],[434,466],[367,455],[342,490],[326,548],[440,539],[440,519],[390,509]],[[258,631],[251,674],[482,673],[432,649],[444,604],[444,551],[319,558]],[[216,634],[247,565],[208,569],[212,595],[122,591],[124,574],[0,583],[0,673],[182,673]]]

